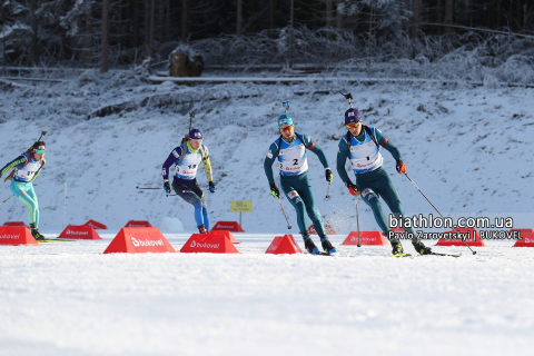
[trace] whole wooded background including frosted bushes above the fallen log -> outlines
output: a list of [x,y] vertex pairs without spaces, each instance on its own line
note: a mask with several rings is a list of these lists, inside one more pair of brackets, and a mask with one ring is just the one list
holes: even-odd
[[[207,69],[534,81],[533,0],[2,0],[9,67]],[[147,65],[148,63],[148,65]]]

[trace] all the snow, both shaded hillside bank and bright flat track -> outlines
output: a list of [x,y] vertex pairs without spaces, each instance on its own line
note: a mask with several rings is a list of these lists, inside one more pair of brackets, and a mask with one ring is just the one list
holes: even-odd
[[[399,148],[407,174],[442,214],[512,217],[514,228],[532,228],[530,88],[343,79],[187,87],[91,71],[67,83],[4,86],[0,165],[48,131],[47,166],[34,184],[40,230],[61,231],[66,182],[66,225],[95,219],[110,230],[98,241],[0,246],[0,355],[530,354],[532,249],[492,240],[476,255],[436,248],[463,253],[457,259],[389,258],[385,247],[339,246],[356,229],[354,199],[335,171],[348,108],[339,90]],[[159,99],[139,105],[146,98]],[[165,98],[189,100],[164,106]],[[281,200],[288,230],[263,170],[287,100],[296,130],[316,140],[334,169],[326,199],[324,170],[309,156],[316,206],[340,234],[332,236],[339,257],[265,255],[275,236],[298,235],[295,211]],[[118,103],[131,107],[90,116]],[[161,187],[161,164],[191,110],[217,182],[208,192],[199,170],[212,224],[238,220],[230,200],[253,200],[243,214],[246,234],[236,235],[241,255],[102,255],[128,220],[149,220],[177,250],[196,230],[189,205],[136,189]],[[383,155],[406,212],[436,215]],[[11,195],[7,184],[0,192],[1,200]],[[360,228],[376,230],[369,208],[362,200],[358,208]],[[0,222],[26,217],[17,199],[0,206]]]

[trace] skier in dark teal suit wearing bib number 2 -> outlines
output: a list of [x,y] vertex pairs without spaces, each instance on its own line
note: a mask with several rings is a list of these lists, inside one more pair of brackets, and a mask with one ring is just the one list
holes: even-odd
[[298,228],[300,229],[300,235],[303,235],[304,238],[304,246],[308,253],[313,255],[319,254],[319,250],[306,229],[306,219],[304,216],[304,210],[306,210],[314,222],[315,230],[320,237],[323,249],[326,254],[332,255],[336,251],[336,248],[334,248],[328,240],[323,221],[315,208],[314,194],[312,192],[312,186],[309,185],[307,174],[308,160],[306,158],[306,149],[309,149],[317,155],[323,167],[325,167],[326,180],[332,182],[334,176],[330,168],[328,168],[326,156],[312,138],[307,135],[295,132],[293,119],[289,116],[283,115],[278,118],[278,129],[281,135],[270,145],[269,151],[264,161],[264,169],[269,181],[271,194],[275,198],[279,198],[280,196],[280,191],[273,177],[273,164],[275,159],[278,158],[278,161],[280,162],[281,189],[295,210],[297,210],[297,222]]

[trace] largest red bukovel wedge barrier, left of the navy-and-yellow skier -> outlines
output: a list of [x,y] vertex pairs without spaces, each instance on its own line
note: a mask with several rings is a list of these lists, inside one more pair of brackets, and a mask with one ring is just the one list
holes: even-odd
[[176,253],[156,227],[123,227],[105,254]]

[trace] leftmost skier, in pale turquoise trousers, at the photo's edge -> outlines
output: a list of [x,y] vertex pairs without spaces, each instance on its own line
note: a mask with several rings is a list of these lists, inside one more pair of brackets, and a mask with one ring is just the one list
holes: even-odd
[[33,180],[36,180],[47,162],[44,160],[46,150],[44,142],[37,141],[26,154],[17,157],[0,170],[1,178],[7,171],[13,169],[6,180],[11,180],[11,191],[28,206],[28,220],[31,227],[31,235],[37,240],[43,240],[46,238],[38,230],[39,202],[36,191],[33,190]]

